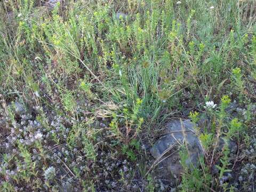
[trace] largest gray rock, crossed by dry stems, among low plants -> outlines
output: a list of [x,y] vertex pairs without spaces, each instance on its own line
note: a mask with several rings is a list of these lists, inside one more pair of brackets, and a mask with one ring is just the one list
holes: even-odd
[[[150,148],[151,155],[157,159],[157,161],[161,162],[158,164],[158,169],[162,170],[162,175],[169,177],[171,174],[180,175],[182,173],[182,166],[179,162],[179,151],[177,147],[173,147],[173,145],[179,146],[186,144],[189,154],[186,163],[188,165],[193,164],[194,166],[199,164],[199,156],[204,155],[204,150],[201,142],[195,135],[194,124],[190,122],[189,119],[185,119],[182,122],[179,120],[170,122],[166,125],[164,134],[165,135]],[[165,153],[166,151],[168,152]]]

